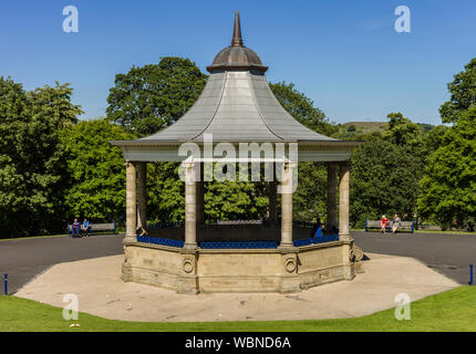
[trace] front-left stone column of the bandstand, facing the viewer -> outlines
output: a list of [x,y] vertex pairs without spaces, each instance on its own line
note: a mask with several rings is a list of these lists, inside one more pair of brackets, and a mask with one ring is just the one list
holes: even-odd
[[185,167],[185,244],[186,249],[197,248],[197,188],[193,163],[184,163]]

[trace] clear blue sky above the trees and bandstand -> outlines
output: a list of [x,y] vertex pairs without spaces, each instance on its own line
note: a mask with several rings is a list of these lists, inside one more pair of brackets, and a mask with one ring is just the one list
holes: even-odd
[[[79,33],[65,33],[65,6]],[[397,33],[397,6],[411,33]],[[229,45],[235,10],[245,45],[334,122],[402,112],[439,124],[446,84],[476,56],[474,0],[1,0],[0,75],[31,90],[69,82],[83,119],[104,115],[108,88],[132,65],[187,56],[205,72]]]

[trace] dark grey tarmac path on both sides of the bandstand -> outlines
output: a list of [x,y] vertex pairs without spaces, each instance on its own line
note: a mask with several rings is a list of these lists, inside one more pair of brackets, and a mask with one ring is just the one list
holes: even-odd
[[[413,257],[432,269],[467,284],[469,263],[476,266],[476,236],[444,233],[400,233],[353,231],[364,252]],[[53,264],[123,253],[123,236],[72,239],[49,237],[0,240],[0,274],[9,273],[9,293]]]

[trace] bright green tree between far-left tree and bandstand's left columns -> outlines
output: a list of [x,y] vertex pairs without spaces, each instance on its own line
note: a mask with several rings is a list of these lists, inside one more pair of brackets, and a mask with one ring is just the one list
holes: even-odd
[[84,121],[63,129],[70,187],[64,190],[66,217],[95,220],[123,220],[125,168],[122,152],[110,140],[134,136],[107,119]]

